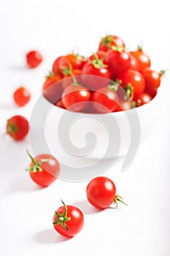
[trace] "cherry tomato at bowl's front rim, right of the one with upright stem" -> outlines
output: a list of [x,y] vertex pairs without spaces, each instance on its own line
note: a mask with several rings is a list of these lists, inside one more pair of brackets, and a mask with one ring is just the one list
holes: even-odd
[[102,87],[98,91],[93,91],[91,101],[96,113],[108,113],[116,110],[119,99],[116,91]]

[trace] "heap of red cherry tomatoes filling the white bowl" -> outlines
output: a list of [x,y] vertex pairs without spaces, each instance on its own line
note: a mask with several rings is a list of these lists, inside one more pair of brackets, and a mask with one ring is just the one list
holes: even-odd
[[150,65],[142,48],[128,51],[123,39],[108,35],[89,58],[70,53],[55,59],[42,91],[54,105],[76,112],[129,110],[157,94],[164,72]]

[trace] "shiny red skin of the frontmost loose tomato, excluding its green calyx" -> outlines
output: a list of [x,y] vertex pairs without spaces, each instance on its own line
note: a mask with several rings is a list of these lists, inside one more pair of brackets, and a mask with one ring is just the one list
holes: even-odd
[[[62,214],[64,210],[65,207],[61,206],[57,209],[57,212],[59,214]],[[53,227],[62,236],[73,237],[82,230],[82,227],[84,225],[84,215],[82,214],[82,211],[80,211],[80,209],[76,206],[67,206],[67,217],[71,218],[69,221],[66,222],[66,227],[68,227],[68,230],[65,230],[61,224],[53,224]],[[54,214],[53,223],[56,222],[56,220],[57,217]]]

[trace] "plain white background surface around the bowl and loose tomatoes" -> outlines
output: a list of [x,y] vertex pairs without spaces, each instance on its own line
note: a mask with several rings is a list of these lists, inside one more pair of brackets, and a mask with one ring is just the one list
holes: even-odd
[[[86,202],[84,183],[56,181],[47,189],[31,182],[25,167],[28,138],[16,143],[4,135],[7,118],[29,118],[42,82],[56,56],[77,48],[88,55],[106,32],[128,46],[143,42],[155,69],[170,67],[168,1],[3,1],[0,9],[1,93],[0,255],[169,256],[169,74],[161,86],[161,116],[152,136],[140,147],[134,163],[120,173],[121,161],[105,173],[112,178],[128,207],[95,212]],[[45,61],[24,67],[24,53],[37,48]],[[20,84],[31,91],[24,108],[12,103]],[[60,199],[85,213],[82,232],[72,239],[53,230],[52,217]]]

